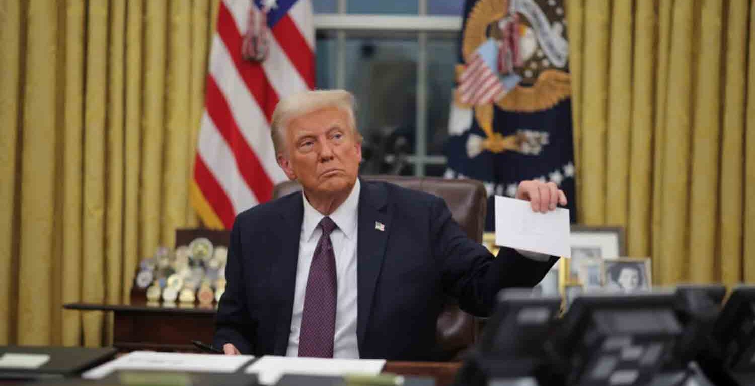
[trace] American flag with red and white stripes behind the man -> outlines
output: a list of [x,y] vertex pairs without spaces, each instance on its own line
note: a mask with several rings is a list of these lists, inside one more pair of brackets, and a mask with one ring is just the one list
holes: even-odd
[[[265,11],[270,28],[261,35],[267,38],[261,62],[242,57],[252,11]],[[314,80],[310,0],[220,2],[191,191],[206,226],[230,228],[236,213],[270,200],[273,185],[285,181],[270,118],[281,97],[312,89]]]

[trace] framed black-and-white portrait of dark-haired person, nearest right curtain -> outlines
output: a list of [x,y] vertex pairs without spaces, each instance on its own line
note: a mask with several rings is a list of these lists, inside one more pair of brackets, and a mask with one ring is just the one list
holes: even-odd
[[613,259],[603,262],[606,289],[632,292],[652,286],[650,259]]

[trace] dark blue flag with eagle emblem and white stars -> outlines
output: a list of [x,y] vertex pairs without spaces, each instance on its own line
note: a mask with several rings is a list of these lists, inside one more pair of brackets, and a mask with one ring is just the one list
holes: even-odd
[[448,178],[513,197],[519,182],[555,182],[575,221],[569,44],[563,0],[467,0],[445,143]]

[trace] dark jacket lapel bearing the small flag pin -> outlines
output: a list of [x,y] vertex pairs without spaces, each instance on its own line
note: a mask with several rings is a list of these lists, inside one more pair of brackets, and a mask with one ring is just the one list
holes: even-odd
[[372,300],[377,278],[380,276],[385,254],[390,220],[393,213],[387,207],[387,193],[381,184],[362,182],[359,194],[359,228],[357,237],[357,320],[356,335],[360,351],[365,329],[370,320]]

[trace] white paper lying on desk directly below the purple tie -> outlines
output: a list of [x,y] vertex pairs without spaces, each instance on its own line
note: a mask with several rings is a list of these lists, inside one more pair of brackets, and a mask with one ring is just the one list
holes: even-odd
[[276,384],[285,374],[332,375],[346,374],[377,375],[383,370],[385,360],[325,359],[300,357],[264,356],[246,368],[247,374],[257,374],[260,384]]

